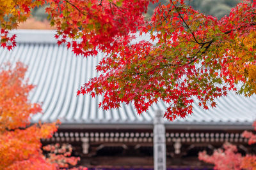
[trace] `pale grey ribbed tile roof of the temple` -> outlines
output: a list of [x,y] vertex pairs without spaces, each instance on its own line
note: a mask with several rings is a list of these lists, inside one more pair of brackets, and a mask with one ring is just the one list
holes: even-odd
[[[101,97],[76,96],[76,91],[90,78],[97,76],[95,66],[102,57],[76,57],[65,46],[58,46],[54,31],[17,31],[17,46],[12,51],[0,48],[0,64],[17,60],[28,65],[27,77],[36,88],[31,101],[42,102],[44,115],[33,121],[52,122],[60,119],[66,127],[152,127],[154,113],[166,110],[166,104],[154,104],[147,113],[136,114],[132,104],[119,110],[98,108]],[[246,98],[234,93],[221,97],[215,109],[204,111],[195,105],[193,115],[166,121],[168,128],[246,128],[256,118],[256,97]]]

